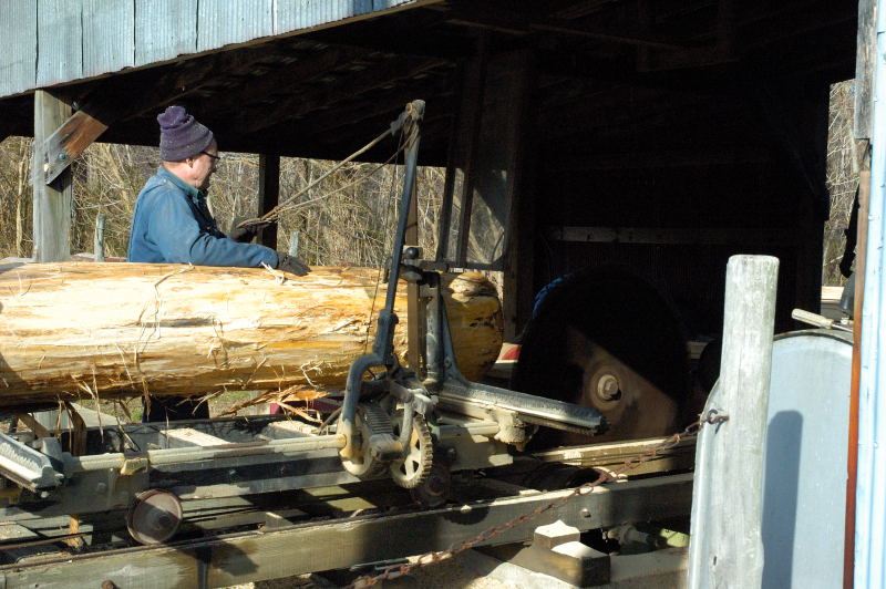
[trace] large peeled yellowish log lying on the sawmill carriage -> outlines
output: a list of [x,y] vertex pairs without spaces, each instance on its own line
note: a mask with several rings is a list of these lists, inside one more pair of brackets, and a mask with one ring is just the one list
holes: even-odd
[[[378,280],[371,268],[315,268],[284,280],[261,268],[0,266],[0,406],[342,388],[350,362],[371,349],[384,303]],[[481,275],[444,285],[459,365],[476,379],[502,343],[499,301]],[[405,285],[398,293],[395,348],[404,355]]]

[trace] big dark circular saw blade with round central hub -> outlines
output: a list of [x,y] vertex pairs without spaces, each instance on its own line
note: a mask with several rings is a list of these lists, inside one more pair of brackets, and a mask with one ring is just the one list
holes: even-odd
[[558,281],[524,331],[512,385],[593,406],[601,435],[543,430],[535,447],[655,437],[673,432],[689,394],[679,321],[658,290],[617,268]]

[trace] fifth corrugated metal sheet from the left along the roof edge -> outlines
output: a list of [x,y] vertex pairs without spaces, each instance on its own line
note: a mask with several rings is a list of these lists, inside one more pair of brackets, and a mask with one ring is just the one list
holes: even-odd
[[274,34],[274,0],[200,0],[197,51]]

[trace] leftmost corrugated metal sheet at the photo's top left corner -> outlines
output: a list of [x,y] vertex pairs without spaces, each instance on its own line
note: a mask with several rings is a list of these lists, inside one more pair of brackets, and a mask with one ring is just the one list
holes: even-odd
[[37,11],[31,2],[8,2],[0,38],[11,51],[0,54],[0,96],[33,87],[37,75]]

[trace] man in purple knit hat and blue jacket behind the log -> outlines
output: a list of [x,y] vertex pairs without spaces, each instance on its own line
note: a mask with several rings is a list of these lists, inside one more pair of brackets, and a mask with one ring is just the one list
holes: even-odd
[[[206,206],[206,190],[220,159],[213,132],[182,106],[169,106],[157,122],[162,164],[138,193],[128,261],[239,267],[267,264],[298,276],[310,271],[293,256],[250,244],[261,226],[235,228],[228,236],[222,232]],[[143,421],[208,416],[205,403],[165,397],[152,400]]]

